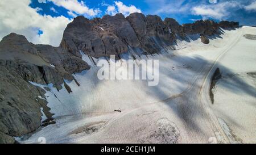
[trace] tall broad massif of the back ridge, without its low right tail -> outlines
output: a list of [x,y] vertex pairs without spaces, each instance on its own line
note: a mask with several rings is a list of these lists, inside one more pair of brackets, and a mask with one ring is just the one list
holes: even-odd
[[105,15],[96,19],[79,16],[68,24],[60,47],[81,57],[79,51],[93,57],[119,55],[129,47],[153,53],[160,50],[158,43],[173,41],[168,27],[159,16],[134,13]]

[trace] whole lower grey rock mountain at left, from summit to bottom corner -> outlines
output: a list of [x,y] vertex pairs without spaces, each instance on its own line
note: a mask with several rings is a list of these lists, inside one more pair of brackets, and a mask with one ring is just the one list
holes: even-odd
[[[89,69],[89,65],[61,48],[34,45],[22,35],[11,33],[0,42],[0,143],[13,143],[44,125],[41,108],[49,120],[45,90],[30,82],[53,83],[61,89],[63,79]],[[46,122],[47,123],[47,122]]]

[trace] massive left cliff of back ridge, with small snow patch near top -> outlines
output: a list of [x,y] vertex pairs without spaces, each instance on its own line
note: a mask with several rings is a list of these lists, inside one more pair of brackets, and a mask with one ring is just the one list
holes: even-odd
[[102,57],[127,52],[127,45],[138,46],[137,36],[125,16],[117,14],[93,20],[78,16],[65,29],[60,47],[79,57],[79,51]]

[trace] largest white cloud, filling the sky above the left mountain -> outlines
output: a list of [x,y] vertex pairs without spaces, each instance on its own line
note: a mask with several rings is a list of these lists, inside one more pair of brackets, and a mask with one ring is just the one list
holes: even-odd
[[[34,44],[50,44],[59,46],[63,31],[71,22],[64,16],[52,17],[38,14],[32,9],[30,0],[0,1],[0,40],[11,32],[27,37]],[[43,31],[38,35],[38,31]]]

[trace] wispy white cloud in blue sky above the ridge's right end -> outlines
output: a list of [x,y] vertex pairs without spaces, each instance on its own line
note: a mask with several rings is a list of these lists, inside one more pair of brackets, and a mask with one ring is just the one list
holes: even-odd
[[239,9],[241,4],[236,1],[226,1],[212,5],[200,5],[192,8],[192,14],[201,15],[203,18],[225,19],[230,15],[230,10]]

